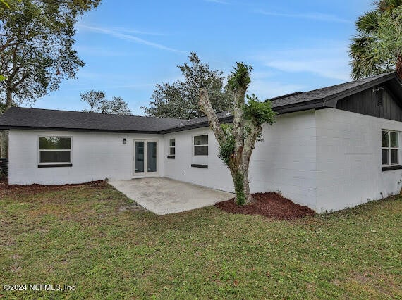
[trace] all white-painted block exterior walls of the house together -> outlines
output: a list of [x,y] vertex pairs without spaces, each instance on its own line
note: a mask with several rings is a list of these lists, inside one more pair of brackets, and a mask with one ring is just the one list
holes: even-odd
[[[402,132],[402,123],[333,108],[279,115],[274,125],[264,126],[264,142],[257,142],[252,154],[251,190],[279,191],[317,212],[395,194],[402,170],[382,172],[382,129]],[[72,136],[73,167],[37,168],[39,135]],[[209,135],[209,156],[193,156],[194,135]],[[171,138],[176,139],[176,159],[166,158]],[[233,192],[231,175],[217,156],[218,144],[209,128],[164,136],[11,130],[9,181],[25,185],[130,179],[133,139],[159,141],[159,176]],[[192,163],[208,168],[193,168]]]

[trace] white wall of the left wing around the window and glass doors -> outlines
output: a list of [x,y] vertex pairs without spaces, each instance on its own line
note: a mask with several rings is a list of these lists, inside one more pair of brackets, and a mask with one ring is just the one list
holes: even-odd
[[[72,167],[38,168],[39,136],[71,136]],[[126,138],[127,144],[123,144]],[[28,185],[80,183],[92,180],[133,177],[133,139],[158,139],[159,175],[164,173],[164,143],[160,135],[133,135],[103,132],[52,132],[11,130],[9,141],[9,182]]]

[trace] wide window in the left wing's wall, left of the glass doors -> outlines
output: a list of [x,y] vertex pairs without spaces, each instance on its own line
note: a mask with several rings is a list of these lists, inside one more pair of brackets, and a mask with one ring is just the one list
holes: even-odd
[[71,137],[39,137],[40,164],[70,164]]

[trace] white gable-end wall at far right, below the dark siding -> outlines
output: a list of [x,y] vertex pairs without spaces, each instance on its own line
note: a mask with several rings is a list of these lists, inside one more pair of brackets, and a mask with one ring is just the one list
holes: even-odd
[[316,123],[317,212],[399,192],[402,170],[382,171],[381,130],[402,131],[401,122],[329,108],[316,111]]

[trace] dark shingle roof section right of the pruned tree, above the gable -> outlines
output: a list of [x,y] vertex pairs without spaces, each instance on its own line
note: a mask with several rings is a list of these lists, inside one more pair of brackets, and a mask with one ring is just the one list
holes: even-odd
[[[379,85],[382,82],[392,79],[399,81],[399,85],[401,84],[401,80],[398,79],[398,75],[396,75],[395,72],[391,72],[342,83],[341,85],[332,85],[331,87],[315,89],[310,92],[296,92],[269,100],[272,101],[272,108],[274,108],[274,111],[278,112],[300,111],[307,109],[304,105],[307,103],[315,103],[315,106],[311,108],[327,107],[325,104],[328,101],[337,99],[339,97],[344,98],[349,94],[357,93],[360,90],[367,89],[373,85]],[[300,106],[300,109],[297,109],[298,106]],[[290,109],[286,109],[286,111],[284,111],[283,108]]]

